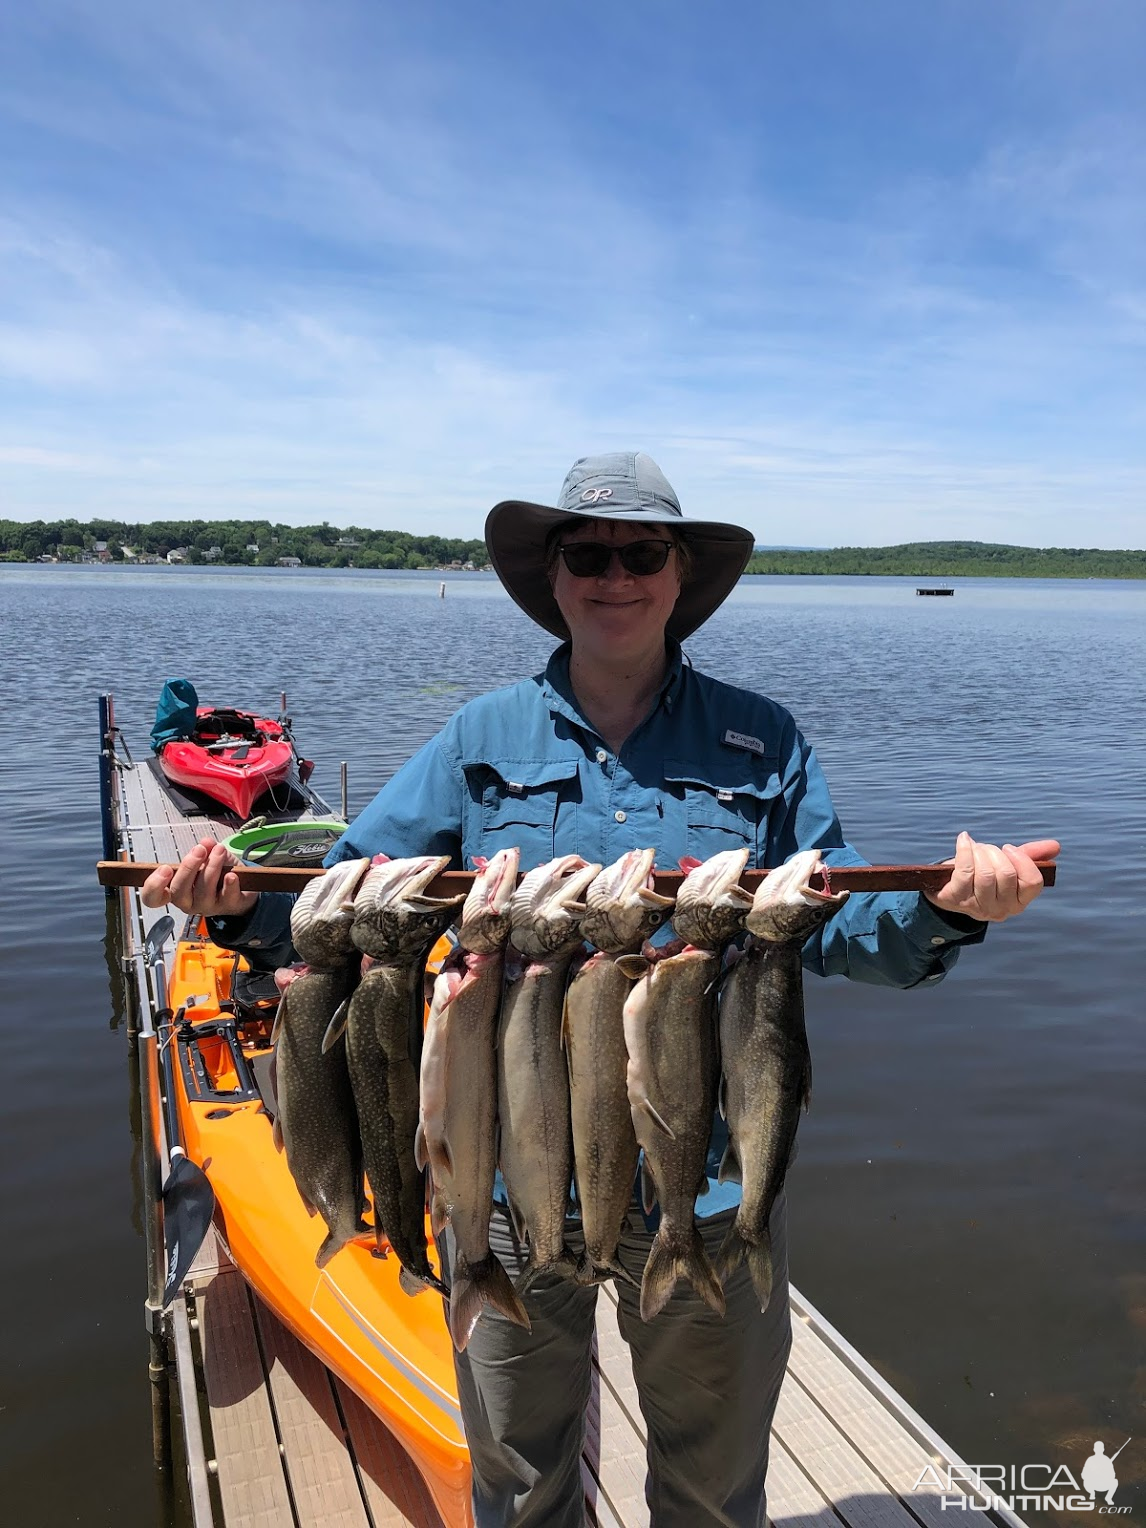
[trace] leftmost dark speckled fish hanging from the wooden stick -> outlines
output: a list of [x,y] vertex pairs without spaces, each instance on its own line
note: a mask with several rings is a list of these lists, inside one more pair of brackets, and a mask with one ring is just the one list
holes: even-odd
[[322,1051],[336,1012],[358,984],[350,940],[353,898],[368,860],[344,860],[313,880],[290,912],[290,937],[306,967],[284,987],[275,1021],[275,1143],[303,1203],[327,1236],[315,1262],[325,1268],[362,1225],[362,1148],[345,1047]]

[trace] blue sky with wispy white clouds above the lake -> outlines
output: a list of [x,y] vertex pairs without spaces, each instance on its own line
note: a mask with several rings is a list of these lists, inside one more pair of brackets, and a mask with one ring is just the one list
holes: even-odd
[[0,0],[0,516],[1146,545],[1140,0]]

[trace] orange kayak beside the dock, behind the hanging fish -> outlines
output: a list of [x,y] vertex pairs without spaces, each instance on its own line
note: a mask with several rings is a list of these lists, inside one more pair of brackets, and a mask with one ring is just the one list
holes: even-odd
[[[442,941],[434,953],[446,949]],[[235,969],[234,952],[206,938],[176,947],[168,1001],[177,1012],[196,998],[191,1022],[176,1027],[174,1041],[186,1154],[211,1180],[217,1224],[251,1285],[394,1433],[448,1528],[472,1528],[469,1453],[442,1299],[405,1294],[397,1258],[376,1256],[373,1236],[315,1267],[325,1225],[307,1213],[258,1093],[274,1005],[241,1021],[229,1004]],[[429,1224],[426,1241],[434,1258]]]

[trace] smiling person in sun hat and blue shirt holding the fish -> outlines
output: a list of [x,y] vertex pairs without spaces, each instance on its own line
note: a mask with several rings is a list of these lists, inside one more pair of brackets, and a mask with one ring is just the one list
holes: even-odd
[[[562,646],[544,674],[465,706],[379,792],[332,859],[432,853],[461,866],[516,845],[527,869],[555,854],[611,863],[656,847],[668,866],[747,845],[759,866],[804,848],[821,848],[828,863],[862,863],[792,717],[681,662],[680,642],[744,570],[747,530],[685,520],[649,457],[616,452],[575,463],[555,507],[495,506],[486,542],[509,593]],[[898,987],[935,983],[987,923],[1030,905],[1042,889],[1034,859],[1057,848],[996,848],[960,834],[941,892],[853,895],[808,941],[804,963]],[[289,898],[257,905],[229,863],[205,842],[156,871],[144,897],[215,918],[219,943],[263,964],[286,961]],[[711,1254],[738,1199],[735,1184],[715,1181],[721,1151],[714,1140],[711,1189],[697,1204]],[[637,1282],[649,1242],[634,1206],[619,1256]],[[490,1244],[516,1273],[523,1258],[501,1206]],[[764,1523],[769,1427],[790,1346],[782,1196],[772,1245],[766,1313],[744,1267],[727,1280],[723,1319],[680,1288],[643,1323],[633,1291],[617,1284],[657,1528]],[[457,1355],[478,1528],[582,1522],[594,1302],[594,1288],[538,1279],[526,1296],[532,1332],[484,1316]]]

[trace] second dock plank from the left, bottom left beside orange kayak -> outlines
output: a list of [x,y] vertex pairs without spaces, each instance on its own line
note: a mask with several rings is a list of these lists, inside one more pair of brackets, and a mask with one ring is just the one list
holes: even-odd
[[299,1528],[368,1528],[329,1371],[258,1297],[254,1303]]

